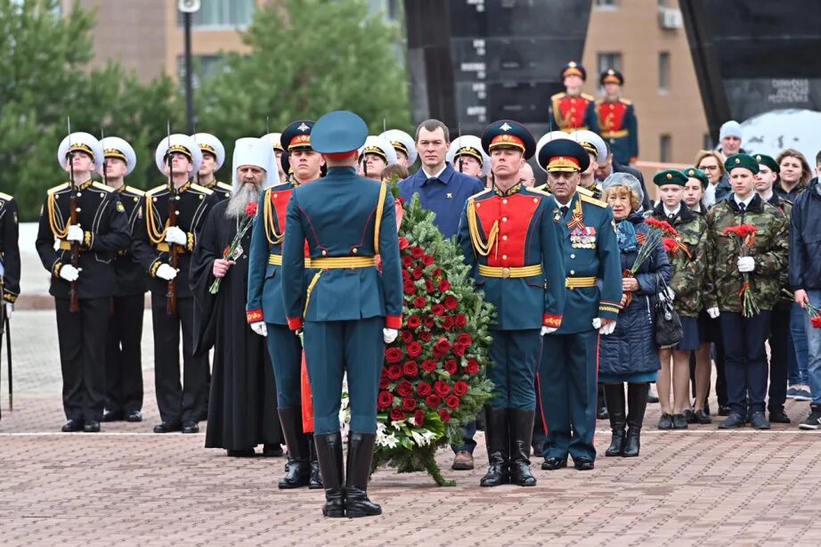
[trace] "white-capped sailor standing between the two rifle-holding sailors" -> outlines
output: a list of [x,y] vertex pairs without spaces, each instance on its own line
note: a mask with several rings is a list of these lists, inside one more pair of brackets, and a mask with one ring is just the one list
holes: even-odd
[[[105,157],[103,180],[119,196],[126,209],[129,233],[134,237],[137,220],[142,218],[145,192],[126,185],[137,156],[123,139],[102,140]],[[105,371],[105,413],[103,421],[142,421],[142,313],[145,308],[145,270],[131,251],[118,250],[113,261],[117,279],[108,322]]]

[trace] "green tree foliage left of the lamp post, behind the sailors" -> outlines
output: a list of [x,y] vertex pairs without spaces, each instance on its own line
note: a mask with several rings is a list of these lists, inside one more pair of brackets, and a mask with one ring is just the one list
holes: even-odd
[[[154,147],[183,130],[184,109],[170,78],[143,85],[117,63],[89,69],[93,13],[78,6],[61,17],[57,0],[0,0],[0,191],[12,193],[23,220],[37,218],[46,189],[67,180],[57,148],[72,131],[117,135],[134,146],[128,184],[161,176]],[[104,52],[99,52],[104,54]]]

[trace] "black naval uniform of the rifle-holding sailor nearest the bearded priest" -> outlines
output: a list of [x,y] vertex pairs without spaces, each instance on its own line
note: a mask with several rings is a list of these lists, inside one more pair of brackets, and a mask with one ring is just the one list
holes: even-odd
[[[191,253],[197,233],[217,199],[214,193],[188,182],[173,195],[168,184],[146,192],[145,211],[138,219],[134,254],[148,270],[151,319],[154,328],[154,383],[159,415],[179,429],[207,416],[208,355],[194,357],[194,298],[189,287]],[[176,313],[167,314],[168,282],[157,277],[162,264],[171,263],[171,244],[165,241],[168,200],[176,200],[176,226],[188,235],[177,255]],[[183,333],[183,385],[180,385],[180,330]]]

